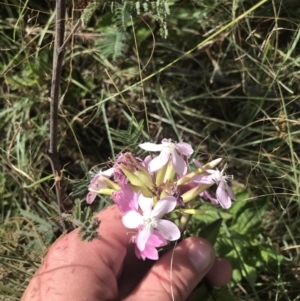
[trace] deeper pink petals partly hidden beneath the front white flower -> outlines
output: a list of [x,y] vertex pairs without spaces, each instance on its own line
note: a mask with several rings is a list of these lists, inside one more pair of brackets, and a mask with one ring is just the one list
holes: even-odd
[[[136,242],[136,236],[132,237],[132,242]],[[157,260],[159,256],[156,248],[165,245],[167,245],[167,240],[157,230],[154,230],[146,243],[144,251],[140,251],[140,249],[135,246],[135,255],[137,258],[142,258],[143,260],[146,258]]]

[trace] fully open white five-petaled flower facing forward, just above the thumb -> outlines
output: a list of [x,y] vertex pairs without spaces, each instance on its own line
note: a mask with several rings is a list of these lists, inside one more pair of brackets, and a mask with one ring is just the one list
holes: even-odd
[[138,203],[143,214],[131,210],[124,214],[122,221],[126,228],[139,230],[136,236],[136,246],[140,251],[145,250],[147,242],[155,229],[166,240],[179,239],[180,231],[178,227],[171,221],[161,219],[164,214],[175,208],[177,202],[174,197],[167,196],[160,199],[152,209],[153,199],[146,198],[140,193]]

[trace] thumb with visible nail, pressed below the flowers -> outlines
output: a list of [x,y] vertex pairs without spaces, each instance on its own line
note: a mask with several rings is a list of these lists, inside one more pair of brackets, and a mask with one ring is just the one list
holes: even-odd
[[212,246],[191,237],[162,256],[144,276],[126,301],[183,301],[204,278],[215,260]]

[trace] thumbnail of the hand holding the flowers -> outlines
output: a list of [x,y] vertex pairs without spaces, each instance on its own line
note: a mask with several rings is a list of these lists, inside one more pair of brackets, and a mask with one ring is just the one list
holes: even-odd
[[214,259],[212,248],[201,241],[193,242],[187,255],[199,273],[206,271]]

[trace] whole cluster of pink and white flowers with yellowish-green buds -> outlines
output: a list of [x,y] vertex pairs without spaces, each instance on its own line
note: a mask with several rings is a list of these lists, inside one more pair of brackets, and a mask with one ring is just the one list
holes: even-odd
[[[226,166],[214,169],[221,159],[202,166],[193,160],[196,169],[189,172],[191,145],[163,139],[161,144],[146,142],[139,145],[145,151],[159,152],[145,159],[127,152],[118,156],[114,166],[100,171],[89,185],[86,201],[91,204],[97,194],[111,195],[123,213],[122,222],[134,232],[130,240],[135,244],[138,258],[158,259],[158,248],[180,238],[180,229],[166,215],[173,211],[184,213],[184,206],[198,197],[228,209],[235,199],[225,174]],[[215,196],[207,190],[217,185]],[[189,206],[191,207],[191,206]]]

